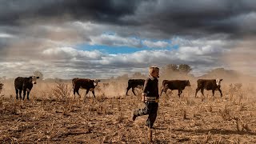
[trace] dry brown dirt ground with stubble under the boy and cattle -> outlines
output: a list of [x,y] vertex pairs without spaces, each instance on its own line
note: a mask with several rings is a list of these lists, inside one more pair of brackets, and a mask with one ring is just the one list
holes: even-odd
[[[89,94],[80,101],[70,83],[37,84],[30,101],[16,100],[12,84],[5,86],[0,143],[148,143],[147,116],[131,120],[131,111],[144,104],[131,92],[125,96],[125,86],[96,90],[97,98]],[[222,86],[222,98],[218,91],[214,98],[210,91],[194,98],[194,90],[186,87],[182,98],[175,90],[162,95],[153,143],[256,143],[253,88]]]

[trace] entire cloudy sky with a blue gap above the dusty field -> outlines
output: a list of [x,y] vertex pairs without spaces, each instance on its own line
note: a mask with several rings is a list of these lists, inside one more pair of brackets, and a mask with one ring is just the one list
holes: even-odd
[[110,78],[188,64],[256,74],[254,0],[0,0],[0,77]]

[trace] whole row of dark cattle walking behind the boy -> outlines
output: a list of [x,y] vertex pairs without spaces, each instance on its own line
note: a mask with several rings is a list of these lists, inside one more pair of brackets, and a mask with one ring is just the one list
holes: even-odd
[[[31,76],[29,78],[22,78],[18,77],[15,78],[14,80],[14,87],[16,91],[16,99],[25,99],[25,97],[29,100],[29,95],[30,95],[30,90],[32,90],[33,84],[36,84],[37,79],[39,77],[36,76]],[[88,79],[88,78],[73,78],[72,79],[72,85],[73,85],[73,90],[74,90],[74,98],[75,94],[78,94],[79,98],[81,98],[81,95],[79,94],[79,89],[85,89],[86,94],[89,93],[89,91],[94,94],[94,89],[96,86],[98,86],[98,82],[100,80],[98,79]],[[128,86],[126,88],[126,95],[128,95],[128,91],[130,88],[132,89],[132,92],[134,95],[134,89],[135,88],[142,88],[144,86],[144,79],[129,79],[128,80]],[[202,95],[204,95],[203,91],[204,90],[212,90],[212,94],[214,96],[214,91],[218,90],[221,94],[222,97],[222,90],[221,88],[221,82],[222,79],[217,78],[217,79],[198,79],[197,81],[197,88],[195,90],[195,95],[194,97],[196,98],[198,90],[201,90]],[[109,83],[103,83],[103,87],[108,86]],[[2,90],[3,84],[0,82],[0,93]],[[182,94],[182,90],[185,89],[186,86],[190,86],[190,81],[189,80],[163,80],[162,81],[162,86],[160,89],[160,95],[164,92],[166,94],[167,90],[178,90],[178,96],[180,97]],[[23,98],[22,98],[22,91],[23,91]],[[19,96],[19,97],[18,97]],[[86,96],[86,95],[85,95]],[[95,98],[95,94],[94,94]]]

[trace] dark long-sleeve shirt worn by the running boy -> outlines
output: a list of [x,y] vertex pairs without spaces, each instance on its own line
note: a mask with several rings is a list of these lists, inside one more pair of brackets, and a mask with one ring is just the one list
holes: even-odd
[[152,78],[151,76],[149,76],[149,78],[146,78],[142,94],[145,95],[146,97],[159,98],[158,78]]

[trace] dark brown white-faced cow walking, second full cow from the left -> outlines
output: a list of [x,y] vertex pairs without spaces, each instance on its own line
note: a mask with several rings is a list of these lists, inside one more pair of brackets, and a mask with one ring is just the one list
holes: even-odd
[[[88,79],[88,78],[73,78],[72,79],[72,84],[73,84],[73,89],[74,89],[74,98],[75,98],[75,93],[78,94],[79,98],[81,98],[81,95],[79,94],[79,89],[86,89],[86,94],[91,91],[94,94],[94,89],[98,85],[98,82],[101,82],[98,79]],[[86,96],[86,95],[85,95]],[[95,94],[94,94],[95,98]]]

